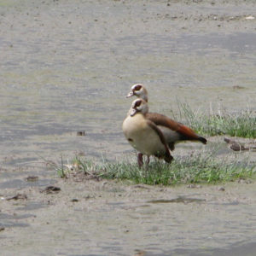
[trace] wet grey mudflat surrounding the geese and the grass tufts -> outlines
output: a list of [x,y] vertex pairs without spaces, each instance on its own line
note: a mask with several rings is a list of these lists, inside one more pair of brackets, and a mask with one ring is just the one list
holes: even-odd
[[[255,112],[255,9],[253,0],[0,1],[1,255],[255,255],[254,180],[75,182],[49,165],[132,157],[120,126],[138,82],[168,115],[178,116],[177,99]],[[255,161],[208,139],[219,157]],[[173,156],[191,149],[202,146]]]

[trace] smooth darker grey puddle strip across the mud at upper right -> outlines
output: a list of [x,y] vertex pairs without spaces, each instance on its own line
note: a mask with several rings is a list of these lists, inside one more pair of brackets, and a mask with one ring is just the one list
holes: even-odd
[[222,33],[209,33],[206,35],[195,35],[185,33],[179,37],[170,35],[143,34],[142,38],[124,37],[119,39],[119,46],[128,47],[134,42],[137,48],[142,49],[143,53],[155,54],[159,51],[174,52],[179,54],[198,54],[198,55],[218,55],[219,50],[227,50],[230,57],[237,55],[247,55],[256,49],[254,44],[256,35],[251,32],[236,32],[223,35]]

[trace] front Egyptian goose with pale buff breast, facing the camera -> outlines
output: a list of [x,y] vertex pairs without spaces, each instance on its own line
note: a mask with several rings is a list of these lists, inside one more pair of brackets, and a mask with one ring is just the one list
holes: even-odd
[[[143,166],[143,154],[154,155],[167,163],[172,161],[172,155],[157,125],[145,116],[148,113],[148,103],[143,99],[136,99],[131,104],[129,115],[123,122],[123,131],[131,146],[139,152],[137,155],[138,166]],[[148,163],[147,162],[147,163]]]

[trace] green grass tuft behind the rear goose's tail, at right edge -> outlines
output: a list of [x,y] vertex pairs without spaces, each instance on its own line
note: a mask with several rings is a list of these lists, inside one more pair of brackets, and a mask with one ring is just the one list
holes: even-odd
[[234,114],[219,112],[207,115],[195,113],[187,104],[178,103],[178,105],[181,118],[200,134],[256,138],[256,116],[253,111],[245,110]]

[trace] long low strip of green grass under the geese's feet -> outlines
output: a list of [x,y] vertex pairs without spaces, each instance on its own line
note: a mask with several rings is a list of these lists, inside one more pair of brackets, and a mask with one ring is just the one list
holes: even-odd
[[[68,166],[68,165],[67,165]],[[94,164],[91,160],[75,158],[72,169],[68,172],[84,172],[84,175],[106,179],[131,180],[133,183],[149,185],[172,185],[181,183],[221,183],[234,181],[238,178],[253,177],[256,165],[229,160],[218,160],[212,153],[198,153],[177,158],[171,164],[153,160],[148,168],[138,168],[137,163],[107,162]],[[63,175],[62,175],[63,177]]]

